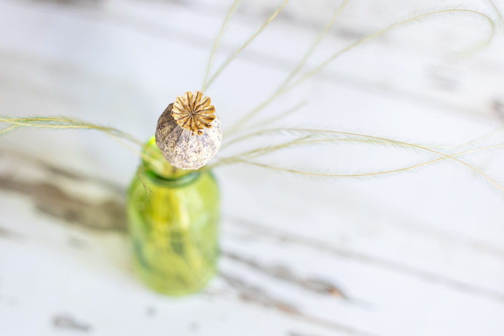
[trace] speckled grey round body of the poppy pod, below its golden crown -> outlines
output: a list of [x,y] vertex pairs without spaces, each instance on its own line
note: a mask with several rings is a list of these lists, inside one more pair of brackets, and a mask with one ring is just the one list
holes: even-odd
[[166,160],[177,168],[199,169],[206,165],[219,150],[222,131],[218,116],[211,128],[205,128],[202,135],[194,135],[191,130],[180,127],[168,105],[159,117],[156,127],[156,145]]

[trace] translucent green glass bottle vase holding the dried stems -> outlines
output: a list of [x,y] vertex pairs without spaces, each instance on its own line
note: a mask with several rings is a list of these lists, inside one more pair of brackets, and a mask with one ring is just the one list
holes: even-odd
[[182,170],[152,137],[128,191],[135,272],[154,291],[200,291],[216,273],[219,188],[209,170]]

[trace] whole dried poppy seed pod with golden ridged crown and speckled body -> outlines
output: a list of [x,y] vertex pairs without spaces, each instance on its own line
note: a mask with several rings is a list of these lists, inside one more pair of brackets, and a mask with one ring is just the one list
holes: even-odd
[[202,93],[186,92],[164,110],[156,127],[156,145],[177,168],[199,169],[219,150],[220,119]]

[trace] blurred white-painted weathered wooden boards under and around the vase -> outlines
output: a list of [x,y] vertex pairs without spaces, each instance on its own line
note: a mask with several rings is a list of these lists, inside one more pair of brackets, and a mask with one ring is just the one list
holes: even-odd
[[[0,114],[66,115],[147,140],[177,95],[201,90],[230,1],[2,0]],[[212,70],[281,2],[243,0]],[[504,11],[504,3],[495,1]],[[292,0],[205,94],[226,132],[296,66],[340,1]],[[350,1],[304,71],[395,22],[456,1]],[[343,54],[256,121],[432,146],[504,122],[504,34],[491,3],[395,29]],[[272,125],[273,126],[273,125]],[[502,132],[486,138],[504,142]],[[249,146],[251,146],[249,144]],[[411,152],[320,146],[279,166],[407,166]],[[501,149],[468,156],[504,183]],[[413,153],[414,154],[414,153]],[[502,190],[454,160],[380,178],[218,168],[219,275],[159,296],[133,275],[124,192],[138,157],[96,131],[0,138],[0,334],[502,335]]]

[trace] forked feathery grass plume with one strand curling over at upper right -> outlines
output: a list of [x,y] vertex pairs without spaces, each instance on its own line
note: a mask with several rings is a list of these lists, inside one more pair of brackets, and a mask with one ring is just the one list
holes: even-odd
[[[340,7],[340,9],[338,9],[338,11],[335,13],[335,17],[333,17],[334,20],[337,18],[336,14],[339,14],[340,10],[343,9],[344,5],[346,5],[346,2],[344,2],[343,5],[342,5],[342,7]],[[232,132],[236,132],[239,129],[241,129],[246,124],[247,121],[249,121],[253,117],[255,117],[259,112],[261,112],[265,107],[267,107],[274,100],[276,100],[277,98],[279,98],[283,94],[289,92],[294,87],[296,87],[299,84],[303,83],[307,79],[309,79],[309,78],[313,77],[314,75],[318,74],[321,70],[323,70],[332,61],[334,61],[335,59],[337,59],[341,55],[343,55],[343,54],[345,54],[345,53],[353,50],[355,47],[357,47],[357,46],[359,46],[359,45],[361,45],[363,43],[366,43],[366,42],[368,42],[368,41],[370,41],[370,40],[372,40],[372,39],[374,39],[376,37],[379,37],[379,36],[381,36],[381,35],[389,32],[389,31],[391,31],[393,29],[405,26],[407,24],[411,24],[411,23],[415,23],[415,22],[420,22],[420,21],[423,21],[425,19],[432,18],[432,17],[435,17],[435,16],[447,15],[447,14],[452,14],[452,15],[453,14],[466,14],[466,15],[476,16],[476,17],[484,19],[484,21],[489,25],[490,32],[488,33],[488,35],[480,43],[478,43],[477,46],[474,46],[474,47],[471,48],[472,52],[474,52],[475,50],[482,49],[483,47],[487,46],[491,42],[491,40],[493,39],[493,37],[495,35],[495,24],[492,21],[492,19],[488,15],[486,15],[484,13],[481,13],[479,11],[476,11],[476,10],[470,10],[470,9],[464,9],[464,8],[449,8],[449,9],[442,9],[442,10],[436,10],[436,11],[427,12],[427,13],[423,13],[423,14],[418,14],[418,15],[415,15],[415,16],[410,17],[408,19],[396,22],[396,23],[394,23],[392,25],[389,25],[389,26],[387,26],[385,28],[382,28],[382,29],[380,29],[378,31],[375,31],[372,34],[369,34],[369,35],[367,35],[365,37],[362,37],[362,38],[358,39],[357,41],[355,41],[355,42],[347,45],[346,47],[340,49],[339,51],[335,52],[334,54],[332,54],[331,56],[329,56],[328,58],[326,58],[324,61],[322,61],[318,65],[314,66],[313,69],[311,69],[310,71],[308,71],[305,74],[301,75],[296,81],[293,81],[293,79],[295,78],[295,75],[302,68],[302,65],[304,65],[304,63],[309,59],[309,56],[311,55],[311,53],[314,50],[316,50],[316,47],[317,47],[318,43],[322,40],[322,37],[324,37],[324,35],[327,33],[326,29],[329,29],[330,27],[332,27],[332,25],[334,25],[334,20],[331,20],[328,23],[328,25],[326,26],[326,29],[324,29],[320,33],[320,35],[317,37],[317,39],[313,43],[312,47],[310,47],[308,49],[308,51],[307,51],[307,53],[305,55],[306,57],[302,58],[302,60],[300,61],[300,63],[298,65],[296,65],[296,67],[294,68],[294,70],[292,71],[292,73],[290,75],[288,75],[286,77],[286,79],[278,86],[278,88],[270,96],[268,96],[262,103],[260,103],[257,107],[255,107],[254,109],[250,110],[249,112],[245,113],[245,115],[242,118],[240,118],[231,127],[231,131]]]

